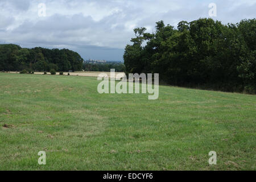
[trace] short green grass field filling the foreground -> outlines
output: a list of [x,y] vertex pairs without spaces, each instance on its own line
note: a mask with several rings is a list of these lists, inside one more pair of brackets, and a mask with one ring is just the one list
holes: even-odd
[[0,170],[255,170],[256,96],[160,86],[148,100],[97,85],[0,73]]

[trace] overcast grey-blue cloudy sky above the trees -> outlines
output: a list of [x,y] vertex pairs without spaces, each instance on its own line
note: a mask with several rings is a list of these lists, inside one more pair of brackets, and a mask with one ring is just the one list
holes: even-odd
[[222,23],[256,18],[256,0],[0,0],[0,43],[68,48],[84,59],[118,61],[135,27],[152,32],[159,20],[176,27],[181,20],[208,18],[210,3]]

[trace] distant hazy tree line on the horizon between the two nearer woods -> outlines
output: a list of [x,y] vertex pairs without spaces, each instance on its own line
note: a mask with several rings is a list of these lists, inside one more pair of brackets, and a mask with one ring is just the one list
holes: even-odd
[[84,63],[83,69],[92,72],[110,72],[110,69],[115,69],[115,72],[125,72],[123,63]]

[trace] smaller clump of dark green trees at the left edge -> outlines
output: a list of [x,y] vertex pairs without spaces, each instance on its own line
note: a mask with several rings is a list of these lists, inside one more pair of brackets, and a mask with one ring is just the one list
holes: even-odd
[[81,71],[79,53],[69,49],[21,48],[15,44],[0,45],[0,71]]

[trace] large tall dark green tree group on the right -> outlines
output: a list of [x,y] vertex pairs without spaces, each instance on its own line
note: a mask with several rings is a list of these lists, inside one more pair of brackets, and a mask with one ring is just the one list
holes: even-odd
[[213,19],[163,21],[150,34],[135,28],[123,58],[127,73],[159,73],[179,86],[256,92],[256,20],[224,25]]

